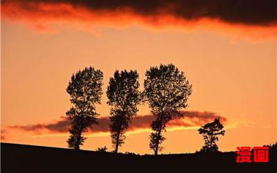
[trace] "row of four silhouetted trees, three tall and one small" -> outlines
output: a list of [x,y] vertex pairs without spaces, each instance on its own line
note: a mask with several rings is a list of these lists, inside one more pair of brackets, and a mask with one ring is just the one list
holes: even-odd
[[[71,135],[67,143],[73,149],[80,149],[80,145],[86,139],[84,132],[93,124],[98,124],[96,104],[100,104],[103,94],[102,79],[102,71],[89,67],[73,74],[66,88],[73,104],[71,109],[66,111],[66,116],[71,122]],[[179,71],[173,64],[152,66],[145,73],[143,86],[144,90],[139,91],[139,74],[133,70],[115,71],[114,77],[109,79],[106,94],[107,104],[111,106],[111,142],[116,153],[118,147],[124,143],[125,131],[136,117],[139,104],[147,102],[154,116],[151,123],[150,149],[154,150],[155,155],[163,149],[161,143],[166,139],[163,133],[168,122],[184,117],[180,111],[187,107],[186,102],[192,93],[192,84],[188,82],[183,71]],[[218,140],[217,135],[224,135],[222,128],[220,120],[215,119],[215,122],[199,129],[206,141],[202,150],[218,149],[215,141]]]

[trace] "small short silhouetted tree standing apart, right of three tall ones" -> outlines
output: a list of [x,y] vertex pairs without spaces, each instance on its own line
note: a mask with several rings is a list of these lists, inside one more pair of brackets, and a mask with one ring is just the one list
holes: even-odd
[[217,152],[218,147],[216,141],[218,140],[219,135],[224,136],[225,130],[222,130],[224,127],[220,122],[220,118],[215,118],[213,122],[207,123],[198,129],[199,134],[202,134],[205,144],[200,150],[200,152]]

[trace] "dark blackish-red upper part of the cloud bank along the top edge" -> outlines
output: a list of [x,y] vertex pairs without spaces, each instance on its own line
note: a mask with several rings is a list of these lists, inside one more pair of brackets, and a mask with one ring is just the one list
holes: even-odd
[[[276,0],[4,0],[6,3],[17,3],[28,11],[36,11],[36,3],[69,4],[73,8],[85,8],[91,11],[117,11],[129,10],[142,17],[163,17],[170,15],[177,19],[193,21],[209,18],[220,19],[227,23],[266,26],[276,24]],[[68,11],[60,10],[64,15]],[[49,14],[50,15],[50,14]]]

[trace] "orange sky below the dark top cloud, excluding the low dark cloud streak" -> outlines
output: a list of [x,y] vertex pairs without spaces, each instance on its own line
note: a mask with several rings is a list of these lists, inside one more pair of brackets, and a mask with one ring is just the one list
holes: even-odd
[[[158,27],[135,14],[125,16],[124,22],[110,22],[109,15],[98,17],[99,20],[97,15],[87,20],[74,17],[70,22],[64,15],[55,20],[47,15],[32,16],[31,12],[10,15],[12,12],[7,9],[1,9],[4,142],[67,147],[66,132],[32,132],[10,126],[62,120],[61,116],[71,107],[66,86],[72,73],[85,66],[104,72],[105,91],[116,69],[136,69],[142,85],[145,71],[161,63],[175,64],[193,84],[187,111],[208,111],[226,118],[226,135],[220,137],[220,150],[277,140],[276,26],[199,19],[162,22],[164,27]],[[33,27],[37,24],[51,30]],[[91,25],[86,27],[88,24]],[[97,107],[101,117],[109,115],[106,102],[104,94]],[[139,115],[149,113],[146,104],[140,106]],[[203,145],[198,128],[169,128],[162,153],[195,152]],[[150,129],[130,131],[120,152],[152,153],[149,134]],[[91,131],[87,136],[82,149],[104,145],[112,149],[108,133]]]

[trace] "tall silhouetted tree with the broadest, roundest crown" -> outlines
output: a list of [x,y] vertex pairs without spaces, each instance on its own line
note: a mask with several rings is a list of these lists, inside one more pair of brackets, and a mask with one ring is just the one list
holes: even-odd
[[155,120],[151,127],[150,149],[157,155],[163,149],[161,143],[166,131],[166,124],[184,115],[179,111],[187,107],[188,96],[192,92],[192,85],[186,80],[184,72],[179,71],[173,64],[154,66],[145,73],[144,95]]

